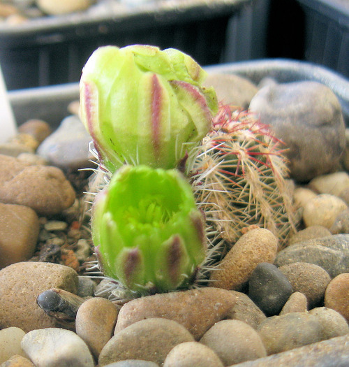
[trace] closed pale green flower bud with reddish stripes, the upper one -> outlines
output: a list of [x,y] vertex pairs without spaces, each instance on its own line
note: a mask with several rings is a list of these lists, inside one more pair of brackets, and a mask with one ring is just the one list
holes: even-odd
[[206,73],[174,49],[105,46],[89,58],[80,80],[80,116],[100,161],[174,168],[211,129],[218,110]]

